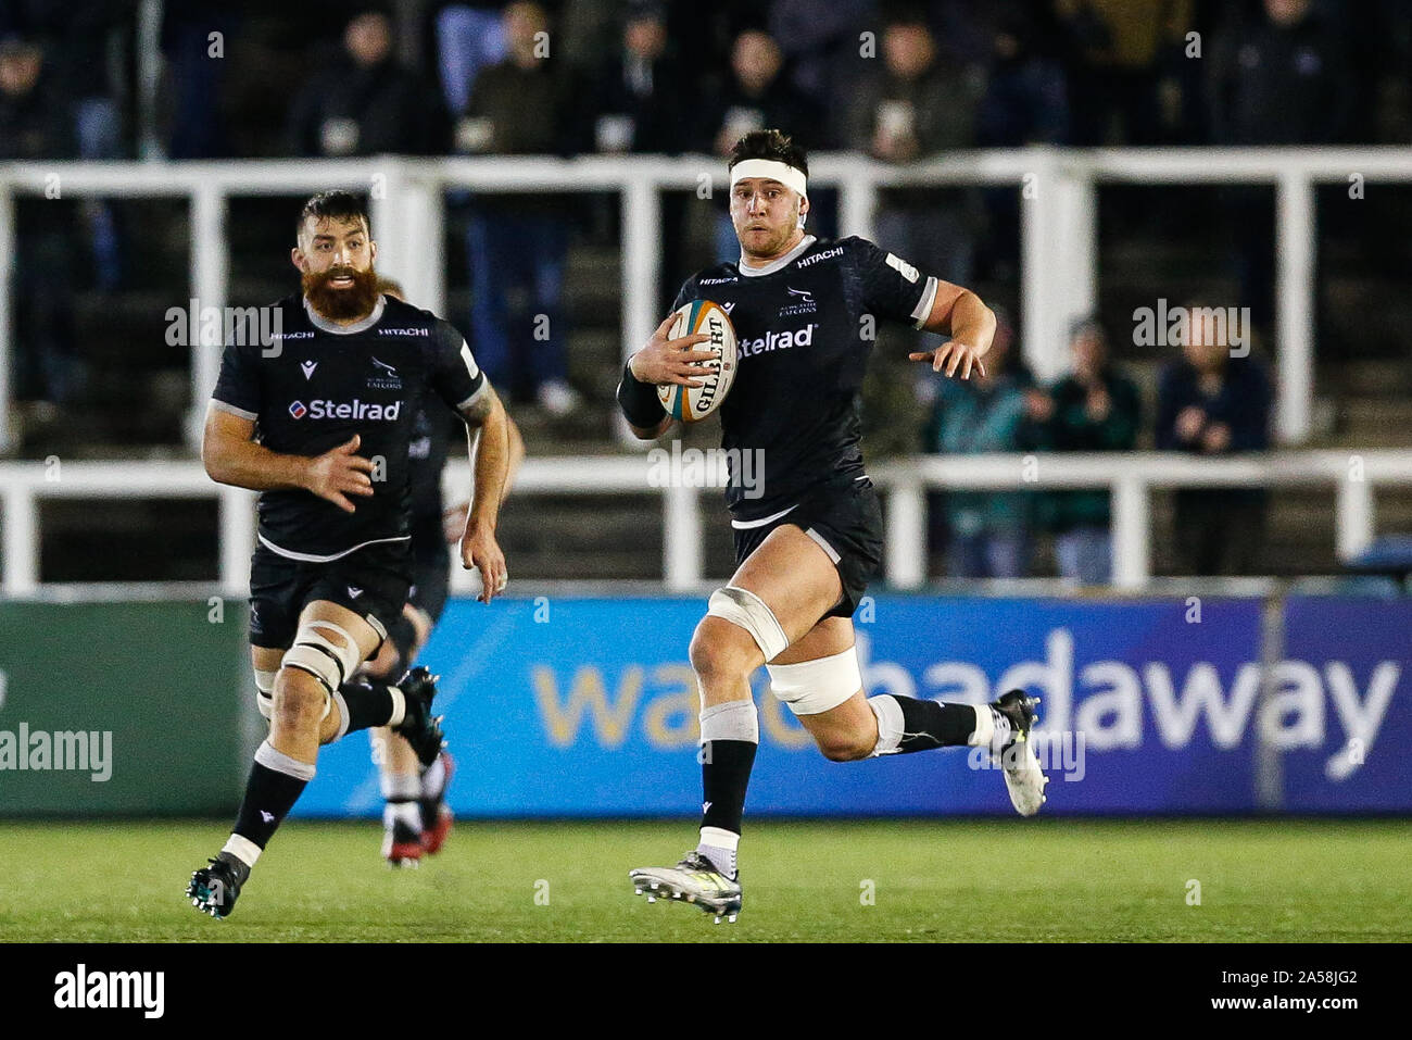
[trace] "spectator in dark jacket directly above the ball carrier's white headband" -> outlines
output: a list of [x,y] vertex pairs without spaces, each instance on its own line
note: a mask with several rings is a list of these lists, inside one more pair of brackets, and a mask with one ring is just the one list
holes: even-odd
[[[700,140],[717,155],[729,155],[736,141],[751,130],[778,127],[805,148],[823,136],[823,113],[784,75],[784,51],[761,30],[746,30],[731,47],[730,76],[707,92]],[[717,201],[716,257],[740,259],[740,242],[730,223],[726,195]]]

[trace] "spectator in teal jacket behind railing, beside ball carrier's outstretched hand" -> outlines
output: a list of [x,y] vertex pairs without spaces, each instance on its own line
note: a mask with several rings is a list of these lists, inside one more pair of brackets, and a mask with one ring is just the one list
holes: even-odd
[[[986,374],[940,380],[932,449],[943,455],[1028,451],[1036,445],[1034,376],[1012,356],[1015,332],[995,314]],[[949,492],[946,569],[952,578],[1022,578],[1034,548],[1032,492]]]

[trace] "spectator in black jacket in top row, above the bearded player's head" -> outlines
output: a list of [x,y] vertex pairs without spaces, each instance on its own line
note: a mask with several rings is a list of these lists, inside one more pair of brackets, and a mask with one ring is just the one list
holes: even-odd
[[380,10],[353,16],[343,49],[316,71],[289,110],[297,155],[433,155],[449,124],[436,92],[393,58],[393,23]]

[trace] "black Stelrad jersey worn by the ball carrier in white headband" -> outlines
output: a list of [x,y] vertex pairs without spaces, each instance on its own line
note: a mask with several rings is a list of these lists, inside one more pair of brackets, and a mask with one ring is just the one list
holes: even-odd
[[[719,264],[686,280],[674,307],[710,300],[736,326],[740,363],[720,406],[736,520],[775,514],[825,480],[863,476],[860,389],[875,326],[921,328],[935,298],[936,278],[858,237],[806,235],[768,267]],[[751,462],[731,449],[760,449],[762,472],[744,469]]]

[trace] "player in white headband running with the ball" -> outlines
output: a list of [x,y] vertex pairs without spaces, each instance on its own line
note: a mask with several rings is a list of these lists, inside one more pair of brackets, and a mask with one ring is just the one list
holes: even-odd
[[[1048,783],[1028,742],[1036,698],[1019,690],[988,705],[870,698],[854,651],[853,612],[882,552],[881,509],[860,449],[866,317],[950,336],[908,356],[960,379],[986,373],[995,317],[974,292],[922,277],[871,242],[805,233],[808,158],[778,130],[746,134],[729,170],[740,261],[689,278],[675,307],[712,300],[730,315],[738,365],[720,406],[722,444],[729,458],[762,455],[764,495],[748,497],[733,475],[726,503],[737,569],[710,595],[690,643],[702,698],[700,841],[675,868],[631,872],[638,893],[695,903],[717,921],[736,920],[741,906],[737,852],[760,745],[750,675],[761,664],[774,695],[833,762],[986,748],[1021,815],[1039,811]],[[618,387],[644,439],[671,425],[658,386],[700,386],[714,356],[700,349],[702,333],[669,341],[671,325],[633,355]]]

